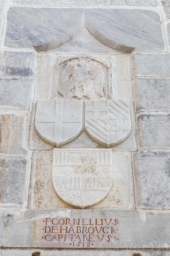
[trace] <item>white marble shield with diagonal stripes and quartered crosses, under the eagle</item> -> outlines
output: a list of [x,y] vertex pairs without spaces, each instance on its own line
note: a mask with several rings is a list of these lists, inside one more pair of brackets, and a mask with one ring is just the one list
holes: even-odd
[[85,130],[95,141],[110,147],[129,136],[131,121],[128,103],[88,100],[85,104]]

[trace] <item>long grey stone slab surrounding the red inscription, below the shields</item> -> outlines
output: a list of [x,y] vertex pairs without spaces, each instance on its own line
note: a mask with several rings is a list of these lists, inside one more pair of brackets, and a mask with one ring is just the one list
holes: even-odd
[[[1,215],[8,218],[8,212],[2,212]],[[8,236],[1,241],[1,246],[5,247],[69,247],[71,238],[66,241],[53,240],[47,241],[44,236],[45,218],[57,218],[66,222],[66,218],[71,221],[73,218],[85,218],[85,222],[89,223],[89,218],[94,219],[111,219],[114,223],[111,225],[115,228],[116,234],[112,236],[119,238],[119,240],[112,240],[107,242],[102,240],[97,242],[97,232],[94,232],[94,242],[90,242],[90,248],[167,248],[169,245],[169,213],[166,212],[152,212],[152,211],[135,211],[135,210],[29,210],[20,214],[12,214],[8,223],[5,226],[5,233]],[[44,220],[45,219],[45,220]],[[117,220],[116,220],[117,219]],[[44,220],[44,222],[43,222]],[[48,226],[52,225],[48,219]],[[56,221],[56,219],[55,219]],[[87,228],[89,224],[87,223]],[[93,222],[92,222],[93,223]],[[104,224],[104,223],[103,223]],[[106,224],[106,223],[105,223]],[[46,224],[47,225],[47,224]],[[61,227],[66,228],[65,225]],[[102,225],[103,226],[103,225]],[[110,225],[109,225],[110,226]],[[59,227],[59,225],[58,225]],[[99,227],[99,226],[98,226]],[[147,228],[146,228],[147,227]],[[19,232],[18,232],[19,230]],[[139,230],[141,232],[139,232]],[[90,231],[91,232],[91,231]],[[109,231],[110,232],[110,231]],[[86,233],[85,231],[83,233]],[[82,237],[82,234],[80,237]],[[15,234],[15,235],[14,235]],[[34,236],[32,236],[34,234]],[[74,232],[71,232],[74,234]],[[86,233],[87,234],[87,233]],[[53,234],[52,234],[53,235]],[[57,233],[56,233],[57,236]],[[107,235],[105,235],[107,237]],[[161,239],[160,239],[161,237]],[[92,240],[92,239],[91,239]],[[73,241],[73,240],[72,240]],[[93,245],[92,245],[93,243]],[[76,242],[77,244],[77,242]],[[87,243],[84,242],[84,247],[88,248]],[[81,245],[82,246],[82,245]],[[80,252],[79,252],[80,253]]]

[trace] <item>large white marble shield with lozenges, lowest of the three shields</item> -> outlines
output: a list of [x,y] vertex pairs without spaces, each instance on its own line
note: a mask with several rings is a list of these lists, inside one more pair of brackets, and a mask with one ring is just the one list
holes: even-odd
[[55,148],[52,180],[65,202],[80,208],[94,205],[112,186],[112,150]]

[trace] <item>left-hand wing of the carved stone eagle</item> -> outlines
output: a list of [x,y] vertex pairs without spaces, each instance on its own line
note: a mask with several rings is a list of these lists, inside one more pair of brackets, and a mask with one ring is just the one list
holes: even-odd
[[61,73],[60,80],[58,82],[58,92],[65,96],[71,89],[73,89],[74,84],[71,83],[71,79],[69,79],[70,75],[74,75],[76,69],[72,64],[67,65],[63,72]]

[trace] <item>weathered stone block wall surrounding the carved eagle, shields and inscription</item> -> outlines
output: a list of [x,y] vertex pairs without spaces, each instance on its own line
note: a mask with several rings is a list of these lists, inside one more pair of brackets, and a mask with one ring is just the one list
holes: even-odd
[[[170,255],[169,13],[164,0],[0,1],[0,255]],[[108,195],[82,210],[56,194],[56,146],[34,122],[37,100],[60,98],[58,63],[75,56],[111,63],[110,98],[130,102],[132,124],[128,138],[110,147]],[[83,123],[59,148],[107,147]],[[119,242],[90,249],[46,243],[40,220],[54,216],[116,216]]]

